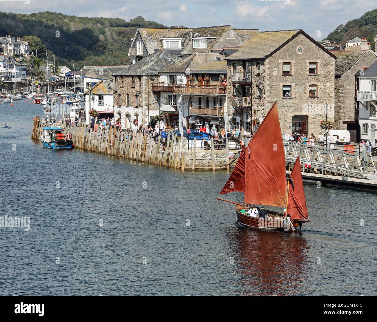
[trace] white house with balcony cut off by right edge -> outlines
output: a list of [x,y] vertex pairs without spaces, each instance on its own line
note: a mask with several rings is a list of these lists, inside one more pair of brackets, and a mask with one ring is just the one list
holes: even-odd
[[358,89],[360,138],[374,141],[377,125],[377,61],[360,73]]

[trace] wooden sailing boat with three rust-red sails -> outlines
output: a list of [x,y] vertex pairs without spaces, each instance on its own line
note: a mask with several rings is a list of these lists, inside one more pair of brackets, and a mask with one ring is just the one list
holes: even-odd
[[[292,171],[285,168],[285,152],[276,102],[268,111],[250,143],[245,140],[240,156],[220,194],[244,193],[236,204],[238,222],[260,230],[294,231],[308,222],[300,158]],[[274,207],[265,209],[264,207]]]

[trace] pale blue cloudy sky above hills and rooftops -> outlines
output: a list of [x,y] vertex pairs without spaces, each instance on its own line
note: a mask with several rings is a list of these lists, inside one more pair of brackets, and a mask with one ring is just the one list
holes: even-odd
[[130,20],[138,15],[166,26],[232,25],[261,31],[303,29],[314,39],[377,8],[376,0],[0,0],[0,11],[61,12]]

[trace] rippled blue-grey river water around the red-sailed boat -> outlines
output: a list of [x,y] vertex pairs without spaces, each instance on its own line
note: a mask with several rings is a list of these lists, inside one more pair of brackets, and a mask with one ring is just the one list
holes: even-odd
[[229,173],[44,149],[42,111],[0,104],[0,217],[30,217],[0,228],[0,295],[377,295],[375,193],[305,183],[312,222],[259,232],[215,200]]

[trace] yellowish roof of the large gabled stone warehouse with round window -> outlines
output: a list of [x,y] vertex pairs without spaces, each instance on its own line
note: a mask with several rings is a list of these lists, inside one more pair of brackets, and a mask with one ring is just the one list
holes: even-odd
[[301,29],[295,29],[259,32],[259,34],[256,34],[241,48],[239,48],[238,51],[225,59],[265,59],[274,54],[274,52],[278,51],[289,40],[300,34],[307,37],[316,46],[335,58],[334,54],[326,50],[322,45],[320,45],[304,31],[302,31]]

